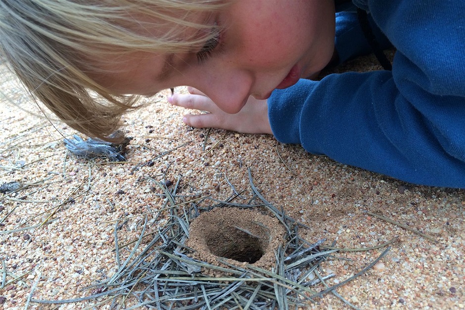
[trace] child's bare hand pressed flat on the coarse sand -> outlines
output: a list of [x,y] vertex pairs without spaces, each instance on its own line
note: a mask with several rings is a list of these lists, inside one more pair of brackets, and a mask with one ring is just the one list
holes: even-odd
[[268,120],[267,100],[249,97],[245,106],[236,114],[228,114],[203,94],[201,91],[188,88],[190,94],[173,94],[168,101],[172,105],[186,109],[206,111],[206,114],[186,114],[183,122],[196,128],[220,128],[239,133],[273,134]]

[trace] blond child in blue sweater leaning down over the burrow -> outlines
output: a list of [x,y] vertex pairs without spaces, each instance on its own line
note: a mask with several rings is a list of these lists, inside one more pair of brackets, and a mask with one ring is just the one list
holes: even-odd
[[[0,46],[81,132],[114,131],[137,99],[125,94],[189,85],[169,101],[210,113],[186,115],[188,125],[273,133],[405,181],[465,187],[463,1],[354,0],[371,15],[367,33],[396,47],[392,72],[320,82],[299,79],[369,52],[347,1],[64,2],[1,0]],[[335,15],[336,2],[348,10]]]

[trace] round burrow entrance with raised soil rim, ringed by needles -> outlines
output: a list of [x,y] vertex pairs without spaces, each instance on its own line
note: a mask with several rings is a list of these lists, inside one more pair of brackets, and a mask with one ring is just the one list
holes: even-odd
[[215,208],[202,213],[190,225],[187,245],[195,258],[219,265],[218,258],[230,263],[275,265],[275,251],[283,242],[284,229],[279,221],[257,211]]

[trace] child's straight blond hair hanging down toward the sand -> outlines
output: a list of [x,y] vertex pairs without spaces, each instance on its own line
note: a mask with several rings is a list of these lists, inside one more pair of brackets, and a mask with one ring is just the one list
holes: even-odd
[[[213,13],[221,0],[0,0],[0,54],[34,100],[89,136],[108,139],[137,95],[115,95],[95,83],[94,59],[135,51],[186,52],[212,36],[192,13]],[[156,21],[156,22],[154,22]],[[170,26],[154,38],[145,27]],[[180,40],[186,28],[205,35]],[[97,96],[95,96],[97,94]],[[102,100],[104,99],[104,100]]]

